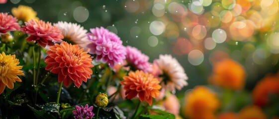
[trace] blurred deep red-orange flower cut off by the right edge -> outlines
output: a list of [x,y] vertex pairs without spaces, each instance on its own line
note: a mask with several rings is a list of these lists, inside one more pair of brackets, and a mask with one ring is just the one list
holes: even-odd
[[254,88],[252,97],[254,104],[265,106],[269,102],[270,94],[279,94],[279,76],[267,74]]

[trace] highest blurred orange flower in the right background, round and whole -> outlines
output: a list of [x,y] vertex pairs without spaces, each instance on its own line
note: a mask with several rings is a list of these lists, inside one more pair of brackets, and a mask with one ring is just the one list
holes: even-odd
[[239,90],[245,83],[245,69],[238,62],[224,59],[213,64],[209,82],[222,88]]

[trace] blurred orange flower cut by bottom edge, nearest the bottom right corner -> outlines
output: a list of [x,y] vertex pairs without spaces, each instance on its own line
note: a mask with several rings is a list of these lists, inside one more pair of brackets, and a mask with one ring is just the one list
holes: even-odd
[[238,119],[267,119],[267,117],[258,106],[251,105],[241,109]]

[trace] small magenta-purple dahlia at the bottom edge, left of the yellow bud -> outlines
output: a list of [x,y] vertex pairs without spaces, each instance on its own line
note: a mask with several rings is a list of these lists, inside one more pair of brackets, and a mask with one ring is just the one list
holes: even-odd
[[76,110],[73,111],[75,119],[92,119],[94,113],[92,112],[93,106],[88,108],[88,104],[83,106],[76,106]]

